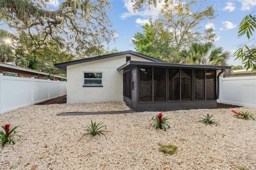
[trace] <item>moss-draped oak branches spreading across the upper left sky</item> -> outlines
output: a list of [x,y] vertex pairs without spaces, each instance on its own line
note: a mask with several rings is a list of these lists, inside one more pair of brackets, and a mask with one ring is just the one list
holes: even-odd
[[46,41],[64,45],[78,55],[109,43],[114,30],[107,13],[109,1],[65,0],[51,10],[49,0],[1,0],[0,19],[36,47]]

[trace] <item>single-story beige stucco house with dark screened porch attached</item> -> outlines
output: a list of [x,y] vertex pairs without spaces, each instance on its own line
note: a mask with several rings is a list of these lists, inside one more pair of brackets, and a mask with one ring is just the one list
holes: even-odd
[[67,71],[67,103],[125,101],[135,111],[216,108],[230,66],[167,63],[132,50],[55,64]]

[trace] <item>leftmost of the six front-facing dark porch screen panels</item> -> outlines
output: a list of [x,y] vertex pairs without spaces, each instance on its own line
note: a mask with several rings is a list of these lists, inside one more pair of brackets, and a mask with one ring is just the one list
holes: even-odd
[[152,101],[152,67],[140,67],[140,101]]

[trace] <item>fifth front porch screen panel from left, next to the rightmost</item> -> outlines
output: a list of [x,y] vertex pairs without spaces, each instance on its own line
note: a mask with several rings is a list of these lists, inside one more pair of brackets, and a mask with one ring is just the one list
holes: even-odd
[[195,69],[194,89],[195,89],[195,100],[205,99],[205,86],[204,86],[204,70]]

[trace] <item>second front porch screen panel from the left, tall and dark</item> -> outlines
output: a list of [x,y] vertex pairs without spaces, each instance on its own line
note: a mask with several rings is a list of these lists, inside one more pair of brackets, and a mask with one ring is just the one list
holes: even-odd
[[154,101],[166,100],[166,68],[154,67]]

